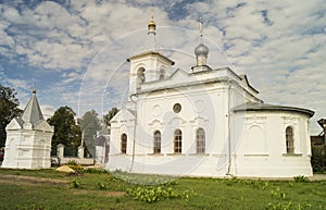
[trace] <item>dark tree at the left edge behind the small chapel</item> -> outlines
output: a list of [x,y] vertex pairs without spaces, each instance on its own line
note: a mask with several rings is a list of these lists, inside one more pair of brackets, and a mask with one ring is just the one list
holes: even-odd
[[10,87],[3,87],[0,84],[0,147],[5,144],[7,133],[5,126],[12,119],[22,114],[18,108],[20,102],[16,98],[17,92]]

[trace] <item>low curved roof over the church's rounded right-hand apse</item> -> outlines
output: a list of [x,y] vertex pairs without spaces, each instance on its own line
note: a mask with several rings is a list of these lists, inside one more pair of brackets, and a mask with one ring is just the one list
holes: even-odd
[[276,106],[268,103],[258,103],[258,102],[247,102],[242,103],[233,109],[234,112],[244,112],[244,111],[290,111],[290,112],[300,112],[312,118],[314,112],[308,109],[296,108],[296,107],[286,107],[286,106]]

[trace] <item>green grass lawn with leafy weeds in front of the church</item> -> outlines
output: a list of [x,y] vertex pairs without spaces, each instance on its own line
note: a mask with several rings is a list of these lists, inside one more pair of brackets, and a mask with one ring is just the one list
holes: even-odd
[[66,175],[52,169],[0,169],[0,209],[326,210],[326,181],[166,178],[96,170]]

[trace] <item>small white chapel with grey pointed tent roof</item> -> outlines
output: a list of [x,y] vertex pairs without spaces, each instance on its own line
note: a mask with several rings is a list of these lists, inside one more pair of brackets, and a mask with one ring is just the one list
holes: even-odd
[[36,98],[36,89],[22,116],[13,119],[5,127],[7,139],[2,168],[50,168],[53,126],[43,119]]

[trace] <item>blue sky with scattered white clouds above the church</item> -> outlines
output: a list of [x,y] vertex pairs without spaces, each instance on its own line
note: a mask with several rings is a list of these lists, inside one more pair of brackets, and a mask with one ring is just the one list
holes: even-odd
[[326,118],[325,0],[0,0],[0,83],[24,108],[37,88],[46,118],[62,106],[77,116],[120,107],[128,89],[127,58],[147,50],[154,16],[162,53],[186,71],[203,20],[212,69],[246,74],[266,103]]

